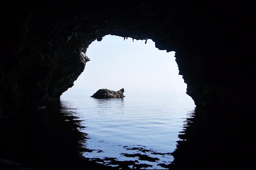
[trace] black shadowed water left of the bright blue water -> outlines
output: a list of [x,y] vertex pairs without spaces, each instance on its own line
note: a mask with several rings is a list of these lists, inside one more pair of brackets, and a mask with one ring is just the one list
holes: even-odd
[[61,109],[55,101],[46,110],[0,120],[0,169],[103,168],[81,156],[89,151],[82,147],[86,134],[77,130],[83,127],[76,113],[63,114]]

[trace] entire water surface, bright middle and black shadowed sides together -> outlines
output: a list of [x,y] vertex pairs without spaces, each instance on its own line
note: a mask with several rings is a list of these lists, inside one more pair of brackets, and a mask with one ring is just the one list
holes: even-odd
[[69,91],[45,110],[0,120],[0,169],[254,167],[250,110],[194,109],[185,94],[156,91],[90,95]]

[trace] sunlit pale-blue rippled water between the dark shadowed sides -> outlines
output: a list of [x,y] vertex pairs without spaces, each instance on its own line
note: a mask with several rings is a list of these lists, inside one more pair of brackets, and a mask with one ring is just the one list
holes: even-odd
[[94,92],[69,89],[60,98],[61,112],[75,114],[83,126],[79,131],[87,134],[85,158],[120,169],[172,163],[178,134],[194,112],[190,96],[128,90],[123,99],[96,99],[90,97]]

